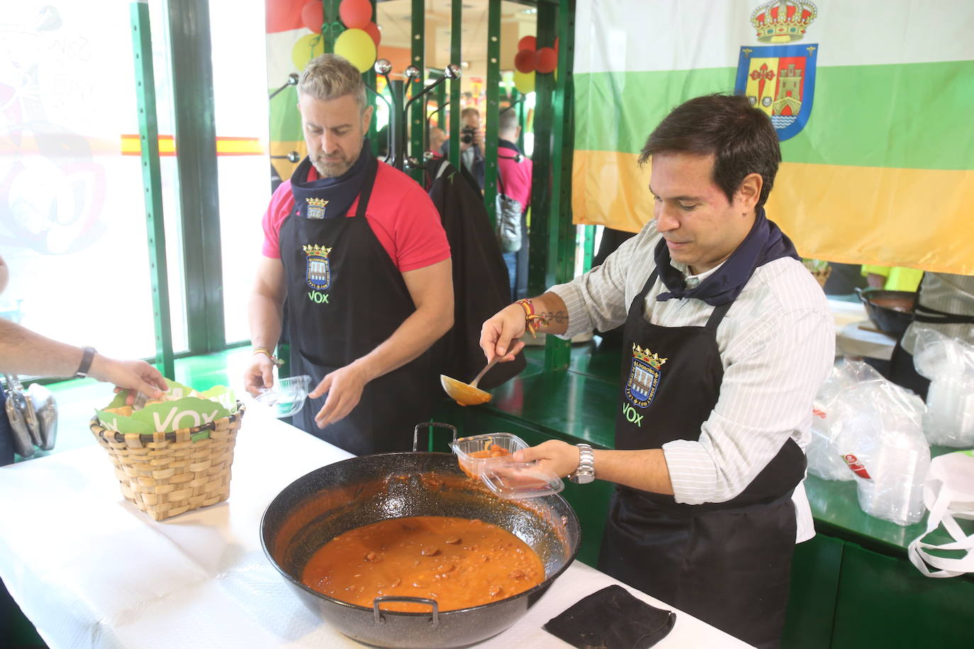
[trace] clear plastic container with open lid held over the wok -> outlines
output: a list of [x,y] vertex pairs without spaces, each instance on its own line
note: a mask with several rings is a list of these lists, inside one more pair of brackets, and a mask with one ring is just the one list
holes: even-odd
[[515,462],[510,455],[528,444],[510,433],[461,437],[451,445],[460,468],[479,478],[502,498],[537,498],[558,493],[565,484],[558,476],[539,469],[534,462]]

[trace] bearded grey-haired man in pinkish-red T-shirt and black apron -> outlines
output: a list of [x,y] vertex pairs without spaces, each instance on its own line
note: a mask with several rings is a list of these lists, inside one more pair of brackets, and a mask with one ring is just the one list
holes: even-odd
[[453,326],[450,246],[423,188],[370,154],[355,66],[313,59],[297,107],[308,157],[264,214],[244,384],[273,385],[286,307],[290,374],[317,384],[294,424],[359,455],[408,451],[437,394],[430,347]]

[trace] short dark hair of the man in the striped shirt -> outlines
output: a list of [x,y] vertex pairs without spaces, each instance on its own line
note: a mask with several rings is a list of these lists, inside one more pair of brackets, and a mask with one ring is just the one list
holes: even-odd
[[778,135],[768,114],[739,94],[707,94],[686,101],[650,133],[639,152],[643,164],[656,154],[714,156],[714,183],[729,201],[750,173],[764,181],[757,207],[768,200],[781,162]]

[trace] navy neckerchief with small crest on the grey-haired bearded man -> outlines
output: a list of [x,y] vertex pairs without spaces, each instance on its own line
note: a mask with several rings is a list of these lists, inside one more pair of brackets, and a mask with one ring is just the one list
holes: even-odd
[[[348,171],[335,178],[308,180],[312,170],[311,158],[305,157],[291,174],[291,193],[294,195],[294,208],[301,218],[334,219],[345,216],[349,207],[361,193],[362,185],[368,176],[369,161],[374,161],[372,146],[368,139],[362,143],[358,159]],[[309,199],[314,199],[309,202]],[[325,204],[321,204],[326,201]],[[309,215],[311,206],[311,215]]]

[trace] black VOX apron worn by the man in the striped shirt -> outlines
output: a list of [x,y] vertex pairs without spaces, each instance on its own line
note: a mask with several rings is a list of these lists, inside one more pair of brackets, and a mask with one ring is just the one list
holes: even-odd
[[[704,327],[651,324],[643,304],[656,276],[624,325],[618,450],[699,439],[720,396],[716,332],[733,303],[717,306]],[[797,532],[791,494],[804,475],[805,454],[789,440],[728,502],[686,505],[619,486],[599,568],[745,642],[777,646]]]

